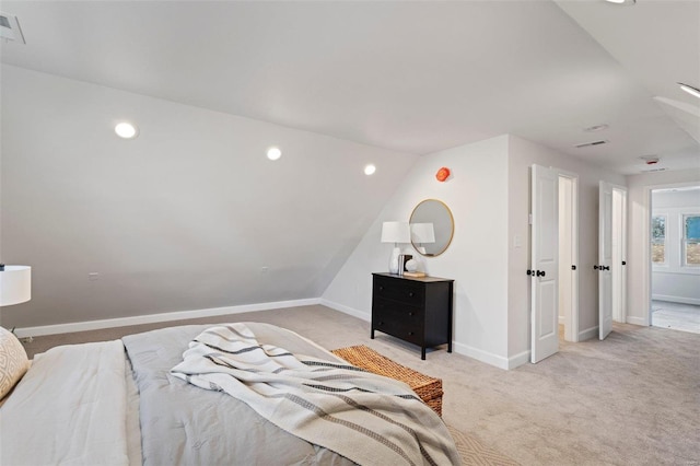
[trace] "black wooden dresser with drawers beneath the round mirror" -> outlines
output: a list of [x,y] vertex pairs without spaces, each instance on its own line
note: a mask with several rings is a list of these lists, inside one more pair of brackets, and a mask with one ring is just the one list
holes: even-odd
[[372,273],[372,334],[380,330],[425,348],[447,343],[452,352],[454,280]]

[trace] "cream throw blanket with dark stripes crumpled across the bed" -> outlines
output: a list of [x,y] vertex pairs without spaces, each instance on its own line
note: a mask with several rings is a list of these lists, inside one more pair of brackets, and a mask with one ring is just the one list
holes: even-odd
[[330,353],[323,360],[260,345],[236,323],[203,331],[183,358],[173,375],[225,392],[279,428],[360,465],[460,463],[442,419],[406,384]]

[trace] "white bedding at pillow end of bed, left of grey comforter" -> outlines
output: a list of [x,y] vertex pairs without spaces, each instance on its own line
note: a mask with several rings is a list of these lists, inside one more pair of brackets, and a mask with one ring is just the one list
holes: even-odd
[[128,465],[140,452],[127,441],[126,375],[119,340],[37,356],[0,408],[0,464]]

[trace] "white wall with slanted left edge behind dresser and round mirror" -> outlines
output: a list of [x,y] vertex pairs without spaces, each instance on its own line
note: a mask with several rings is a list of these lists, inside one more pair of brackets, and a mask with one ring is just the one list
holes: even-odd
[[[454,238],[423,265],[432,276],[455,280],[454,350],[506,368],[508,140],[421,156],[324,293],[325,302],[370,319],[371,273],[387,270],[392,248],[380,243],[382,222],[408,221],[421,200],[440,199],[452,210]],[[441,166],[452,171],[445,183],[435,179]]]

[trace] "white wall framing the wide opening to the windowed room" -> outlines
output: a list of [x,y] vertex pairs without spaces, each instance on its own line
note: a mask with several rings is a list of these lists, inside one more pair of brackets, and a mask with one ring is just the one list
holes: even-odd
[[676,172],[654,172],[627,177],[628,194],[628,278],[627,322],[650,325],[651,190],[674,186],[697,185],[700,168]]

